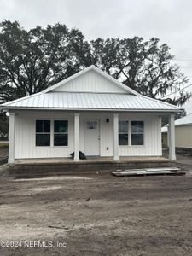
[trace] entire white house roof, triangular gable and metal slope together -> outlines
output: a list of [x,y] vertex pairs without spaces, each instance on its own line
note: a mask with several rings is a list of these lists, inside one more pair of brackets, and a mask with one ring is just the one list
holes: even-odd
[[[90,87],[91,90],[89,90]],[[95,66],[87,67],[72,77],[34,95],[6,102],[1,105],[1,108],[183,111],[166,102],[140,95]]]

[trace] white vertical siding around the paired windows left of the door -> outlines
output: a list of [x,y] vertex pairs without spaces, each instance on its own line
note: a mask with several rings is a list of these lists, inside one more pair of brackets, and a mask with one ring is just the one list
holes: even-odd
[[[68,136],[67,147],[36,147],[37,119],[67,119]],[[53,127],[51,127],[53,129]],[[55,158],[68,157],[73,148],[73,116],[61,112],[33,112],[23,111],[15,114],[15,159],[23,158]]]

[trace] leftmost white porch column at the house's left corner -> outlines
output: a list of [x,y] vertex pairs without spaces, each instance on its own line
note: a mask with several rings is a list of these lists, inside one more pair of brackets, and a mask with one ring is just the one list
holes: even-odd
[[15,113],[9,113],[9,164],[15,162]]

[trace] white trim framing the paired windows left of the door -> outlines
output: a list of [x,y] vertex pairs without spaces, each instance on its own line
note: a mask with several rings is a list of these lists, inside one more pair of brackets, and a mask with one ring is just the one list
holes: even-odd
[[[50,146],[36,146],[36,121],[37,120],[49,120],[50,121]],[[34,148],[69,148],[69,136],[67,146],[54,146],[54,121],[67,121],[69,135],[69,119],[53,119],[53,118],[37,118],[34,119]]]

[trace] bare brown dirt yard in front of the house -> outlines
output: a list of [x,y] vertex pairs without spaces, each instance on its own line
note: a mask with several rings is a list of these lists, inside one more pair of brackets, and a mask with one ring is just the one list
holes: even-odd
[[0,212],[1,256],[192,255],[190,172],[1,177]]

